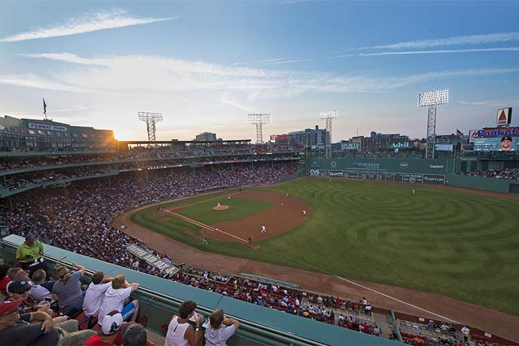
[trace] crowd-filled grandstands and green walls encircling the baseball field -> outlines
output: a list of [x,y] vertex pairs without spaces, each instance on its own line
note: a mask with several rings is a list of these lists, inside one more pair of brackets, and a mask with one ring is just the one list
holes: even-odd
[[[353,297],[338,297],[327,304],[320,303],[318,298],[330,299],[326,287],[319,292],[309,291],[305,287],[293,287],[289,282],[251,278],[242,273],[215,273],[190,263],[174,275],[165,275],[127,250],[131,244],[147,248],[143,239],[125,234],[110,221],[114,215],[138,206],[212,190],[270,185],[307,175],[351,178],[345,172],[361,160],[377,163],[379,167],[387,164],[385,174],[426,176],[431,174],[429,168],[425,168],[427,163],[443,165],[432,169],[438,170],[432,174],[444,175],[444,183],[448,184],[455,178],[450,175],[454,173],[447,170],[452,167],[453,172],[459,172],[464,162],[461,159],[426,162],[419,154],[401,152],[345,154],[331,160],[317,158],[314,163],[305,160],[306,148],[301,145],[253,145],[250,140],[118,142],[110,131],[51,124],[49,120],[45,121],[48,122],[46,125],[65,127],[68,138],[56,136],[58,130],[45,131],[44,134],[31,134],[35,139],[29,146],[28,140],[21,136],[29,134],[28,124],[43,123],[42,120],[19,120],[16,124],[14,118],[7,120],[6,131],[0,132],[0,175],[3,176],[0,224],[8,225],[5,229],[10,233],[2,240],[2,258],[6,263],[16,265],[14,252],[23,242],[19,236],[31,232],[48,244],[45,256],[51,264],[68,257],[63,261],[67,265],[78,262],[91,271],[102,269],[107,274],[123,273],[131,282],[141,282],[144,287],[134,293],[135,298],[145,302],[139,318],[147,316],[147,322],[143,324],[159,336],[165,335],[163,325],[172,313],[178,313],[176,309],[180,302],[190,299],[197,301],[204,314],[221,308],[245,325],[229,340],[230,345],[390,345],[393,343],[388,339],[391,329],[397,331],[397,340],[401,342],[414,335],[426,345],[439,343],[442,331],[430,331],[424,322],[424,318],[428,320],[430,316],[411,315],[385,307],[373,307],[367,312],[366,304]],[[17,128],[18,132],[9,131],[9,127]],[[410,167],[406,172],[402,172],[403,160],[410,164],[406,166]],[[495,162],[505,166],[509,165],[505,163],[508,161],[507,158]],[[319,170],[318,174],[316,170]],[[381,180],[379,177],[375,175],[372,180]],[[458,179],[464,178],[471,177]],[[367,174],[355,179],[371,178]],[[485,184],[495,190],[491,183]],[[507,185],[507,193],[513,192],[513,185],[516,184]],[[152,248],[148,250],[161,260],[171,262],[165,253]],[[85,275],[84,282],[89,282],[90,275],[91,272]],[[287,293],[271,294],[273,285]],[[259,298],[261,293],[268,293],[268,301]],[[281,303],[283,298],[289,300],[286,307]],[[299,309],[295,307],[296,298],[300,301]],[[325,319],[319,322],[320,316],[312,311],[317,306],[329,313],[334,311],[334,317],[325,314]],[[441,320],[436,322],[439,325]],[[353,330],[355,325],[366,327],[358,333]],[[380,330],[382,338],[367,335],[370,325]],[[461,327],[456,325],[457,331]],[[471,329],[477,336],[491,334],[488,330]],[[494,334],[491,340],[518,345],[511,336],[504,338]],[[471,342],[471,345],[477,345],[477,340]]]

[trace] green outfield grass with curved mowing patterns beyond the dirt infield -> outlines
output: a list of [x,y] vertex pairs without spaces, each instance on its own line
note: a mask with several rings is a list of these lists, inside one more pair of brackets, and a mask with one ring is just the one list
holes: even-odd
[[[202,248],[199,239],[183,232],[158,229],[145,212],[132,221],[204,251],[438,293],[519,316],[513,304],[519,201],[430,185],[338,179],[302,179],[260,190],[303,199],[311,215],[289,232],[255,242],[257,250],[215,240]],[[170,228],[177,227],[194,226],[177,219]]]

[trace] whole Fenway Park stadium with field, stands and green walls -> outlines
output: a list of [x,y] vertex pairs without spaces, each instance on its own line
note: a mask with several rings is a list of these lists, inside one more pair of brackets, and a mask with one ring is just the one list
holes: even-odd
[[[518,167],[503,152],[119,141],[5,116],[0,257],[18,268],[34,235],[48,278],[79,264],[83,284],[138,282],[148,345],[186,300],[239,321],[228,345],[519,345]],[[489,170],[510,179],[473,174]]]

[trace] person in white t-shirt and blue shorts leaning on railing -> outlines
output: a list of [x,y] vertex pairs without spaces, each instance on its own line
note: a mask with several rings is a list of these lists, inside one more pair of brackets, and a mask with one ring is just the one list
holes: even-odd
[[111,286],[104,293],[104,299],[101,304],[101,309],[98,314],[98,324],[102,326],[104,316],[112,310],[121,311],[122,320],[135,321],[139,309],[139,301],[131,300],[131,292],[136,291],[139,284],[134,282],[129,284],[126,281],[125,275],[117,275],[111,280]]

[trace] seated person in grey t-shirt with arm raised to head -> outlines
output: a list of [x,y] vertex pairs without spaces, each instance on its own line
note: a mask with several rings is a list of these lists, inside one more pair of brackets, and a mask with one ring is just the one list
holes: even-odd
[[72,266],[78,271],[71,274],[66,266],[58,266],[56,274],[60,277],[53,286],[53,298],[64,315],[73,315],[83,307],[84,291],[82,291],[80,279],[86,268],[73,263]]

